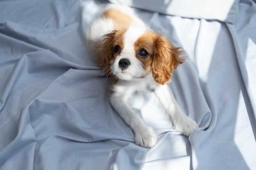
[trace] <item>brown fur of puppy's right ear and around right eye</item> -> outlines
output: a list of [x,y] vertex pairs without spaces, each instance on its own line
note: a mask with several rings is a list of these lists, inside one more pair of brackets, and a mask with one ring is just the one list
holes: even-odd
[[147,73],[152,70],[153,78],[159,84],[170,82],[171,73],[185,60],[185,57],[180,57],[184,54],[181,48],[173,46],[167,38],[153,31],[147,31],[135,42],[135,53],[140,49],[145,49],[148,56],[137,56],[138,60]]

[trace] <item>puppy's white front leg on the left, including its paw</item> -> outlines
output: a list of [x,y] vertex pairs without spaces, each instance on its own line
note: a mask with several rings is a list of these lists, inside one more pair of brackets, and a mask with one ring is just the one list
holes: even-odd
[[144,148],[152,148],[157,142],[157,135],[152,128],[144,124],[139,115],[132,111],[127,104],[128,99],[128,95],[115,92],[110,97],[110,103],[133,130],[135,144]]

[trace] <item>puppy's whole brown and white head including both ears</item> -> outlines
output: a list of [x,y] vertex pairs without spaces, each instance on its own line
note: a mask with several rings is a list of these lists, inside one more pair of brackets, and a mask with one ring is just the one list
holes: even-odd
[[162,35],[130,26],[104,35],[103,71],[128,81],[152,72],[157,83],[166,84],[171,80],[171,72],[184,62],[179,57],[182,53]]

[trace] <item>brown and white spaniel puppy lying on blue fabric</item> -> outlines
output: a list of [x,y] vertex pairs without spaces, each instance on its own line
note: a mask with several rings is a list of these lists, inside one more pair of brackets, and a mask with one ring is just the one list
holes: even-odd
[[114,79],[110,103],[132,128],[135,144],[151,148],[157,142],[153,129],[128,106],[128,100],[137,92],[154,91],[175,129],[182,134],[189,136],[198,128],[183,113],[166,85],[171,81],[171,73],[184,62],[185,58],[180,57],[184,51],[151,31],[131,8],[106,7],[90,25],[87,38],[103,73]]

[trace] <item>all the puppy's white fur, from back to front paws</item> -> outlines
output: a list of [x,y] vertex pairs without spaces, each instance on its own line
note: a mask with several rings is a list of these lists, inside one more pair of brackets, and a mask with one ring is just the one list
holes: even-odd
[[[110,96],[110,103],[135,133],[135,144],[151,148],[157,142],[157,135],[153,129],[146,126],[142,119],[128,106],[128,100],[135,92],[148,89],[155,92],[155,95],[163,104],[166,113],[171,117],[176,130],[186,136],[190,135],[198,128],[196,122],[183,113],[168,85],[157,84],[153,79],[152,73],[146,75],[141,62],[135,57],[134,43],[146,31],[148,26],[130,8],[113,5],[110,5],[110,7],[118,7],[118,9],[126,12],[133,19],[133,24],[124,34],[124,49],[111,66],[112,73],[121,80],[112,87],[113,93]],[[101,16],[101,18],[92,23],[88,39],[94,42],[99,41],[99,39],[103,40],[101,37],[106,33],[110,33],[112,31],[111,28],[113,28],[113,22]],[[118,65],[122,58],[127,58],[131,63],[123,71]],[[141,76],[145,77],[141,78]]]

